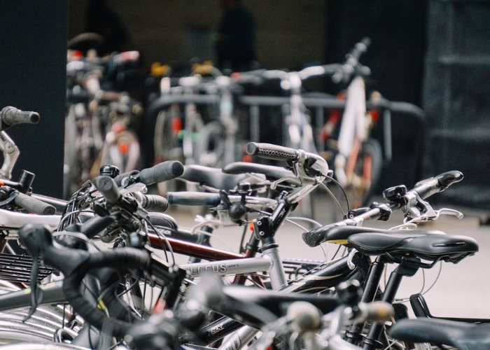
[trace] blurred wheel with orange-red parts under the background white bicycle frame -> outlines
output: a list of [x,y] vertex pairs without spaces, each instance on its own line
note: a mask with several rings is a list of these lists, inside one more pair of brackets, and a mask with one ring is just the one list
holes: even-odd
[[368,139],[361,145],[356,159],[349,158],[346,167],[349,167],[349,162],[352,164],[352,169],[346,170],[347,176],[351,178],[346,192],[352,207],[361,207],[370,200],[381,176],[383,167],[381,145],[377,140]]

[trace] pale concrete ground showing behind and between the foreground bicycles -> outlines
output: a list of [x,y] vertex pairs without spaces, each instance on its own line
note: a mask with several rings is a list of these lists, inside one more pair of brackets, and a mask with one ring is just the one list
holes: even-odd
[[[331,210],[332,203],[323,202],[322,199],[316,201],[315,218],[323,225],[335,221],[335,210]],[[321,210],[324,207],[324,210]],[[440,209],[442,206],[434,206]],[[450,207],[450,206],[444,206]],[[454,207],[452,207],[454,208]],[[490,318],[490,226],[479,225],[479,215],[477,211],[471,209],[458,208],[465,214],[465,218],[458,220],[454,216],[442,216],[433,223],[419,225],[419,228],[430,228],[442,230],[447,235],[465,235],[473,237],[479,244],[479,252],[476,255],[465,258],[458,264],[442,262],[442,270],[437,282],[424,296],[431,313],[435,316],[471,317],[471,318]],[[193,215],[189,209],[173,210],[172,214],[182,227],[195,225]],[[291,214],[291,216],[294,215]],[[338,220],[338,219],[337,219]],[[367,227],[390,228],[391,226],[402,223],[402,215],[395,212],[388,223],[372,221],[366,223]],[[216,248],[233,251],[238,250],[239,240],[243,228],[221,228],[214,232],[211,245]],[[324,260],[325,255],[321,248],[310,248],[301,238],[302,230],[295,225],[285,223],[276,235],[276,240],[280,245],[280,253],[283,258],[308,258]],[[223,242],[225,241],[225,242]],[[331,258],[337,245],[324,244]],[[186,258],[178,258],[184,262]],[[388,267],[388,275],[393,267]],[[433,269],[422,270],[415,276],[406,277],[402,281],[397,298],[409,297],[414,293],[420,293],[421,289],[426,290],[432,285],[439,272],[440,265],[437,264]],[[423,287],[423,274],[425,274],[425,286]],[[409,307],[409,304],[407,304]]]

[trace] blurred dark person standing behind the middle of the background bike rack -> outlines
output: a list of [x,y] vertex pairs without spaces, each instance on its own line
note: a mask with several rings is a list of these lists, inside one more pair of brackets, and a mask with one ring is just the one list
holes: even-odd
[[224,11],[218,26],[218,69],[247,71],[255,61],[255,19],[241,0],[221,0]]

